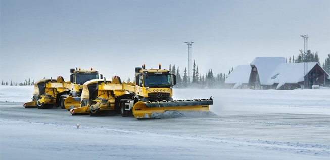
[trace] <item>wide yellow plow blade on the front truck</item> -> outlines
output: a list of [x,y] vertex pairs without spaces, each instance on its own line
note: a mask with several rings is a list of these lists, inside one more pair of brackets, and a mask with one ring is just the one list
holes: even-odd
[[137,119],[156,118],[154,113],[165,111],[209,111],[212,99],[172,100],[162,102],[137,102],[133,107],[133,115]]

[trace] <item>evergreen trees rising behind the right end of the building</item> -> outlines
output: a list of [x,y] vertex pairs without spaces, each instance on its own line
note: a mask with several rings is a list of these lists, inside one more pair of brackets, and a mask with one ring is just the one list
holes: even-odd
[[[296,57],[296,59],[295,56],[292,56],[292,59],[290,56],[289,61],[288,58],[286,59],[286,61],[287,63],[317,62],[318,64],[321,65],[317,51],[316,53],[314,52],[312,53],[310,50],[307,50],[307,52],[303,52],[303,50],[300,50],[300,54]],[[322,68],[327,73],[330,73],[330,54],[328,54],[327,57],[325,58]]]

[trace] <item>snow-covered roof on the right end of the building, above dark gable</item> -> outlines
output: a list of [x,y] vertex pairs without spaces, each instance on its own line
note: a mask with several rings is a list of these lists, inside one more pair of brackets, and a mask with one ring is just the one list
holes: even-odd
[[[310,62],[306,64],[308,73],[317,63]],[[278,83],[276,87],[278,89],[286,83],[298,83],[301,81],[304,81],[304,63],[284,63],[278,65],[271,73],[267,85]]]

